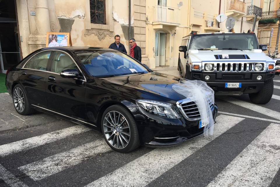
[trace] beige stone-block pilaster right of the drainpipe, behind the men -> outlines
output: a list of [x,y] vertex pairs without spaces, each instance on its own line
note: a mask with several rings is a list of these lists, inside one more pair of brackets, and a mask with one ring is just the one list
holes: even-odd
[[142,63],[149,66],[146,55],[146,0],[134,0],[134,38],[141,47]]

